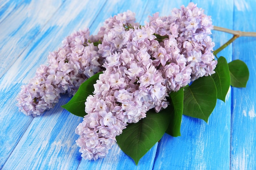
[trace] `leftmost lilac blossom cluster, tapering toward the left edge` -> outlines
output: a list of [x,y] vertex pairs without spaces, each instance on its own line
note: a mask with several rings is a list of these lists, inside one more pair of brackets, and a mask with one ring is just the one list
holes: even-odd
[[77,31],[63,40],[63,46],[49,53],[49,65],[41,65],[29,84],[18,94],[17,106],[25,115],[38,116],[53,108],[61,93],[74,95],[86,79],[102,71],[103,60],[89,29]]

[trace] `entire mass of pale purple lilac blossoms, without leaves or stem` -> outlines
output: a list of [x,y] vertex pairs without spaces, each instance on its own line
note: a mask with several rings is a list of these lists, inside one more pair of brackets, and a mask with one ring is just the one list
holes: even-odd
[[83,158],[105,157],[128,123],[137,123],[152,108],[158,113],[168,106],[168,93],[214,73],[211,29],[211,18],[193,3],[173,9],[172,16],[155,13],[145,26],[131,11],[119,13],[97,35],[85,29],[68,36],[49,54],[49,66],[40,66],[22,86],[18,106],[26,115],[40,115],[61,93],[74,95],[103,70],[75,132]]

